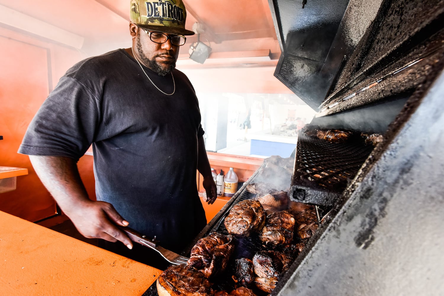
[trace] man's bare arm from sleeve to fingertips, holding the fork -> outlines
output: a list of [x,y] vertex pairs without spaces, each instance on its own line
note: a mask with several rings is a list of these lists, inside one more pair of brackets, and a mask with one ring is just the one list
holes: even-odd
[[131,240],[114,225],[127,226],[128,222],[110,203],[88,198],[73,158],[29,155],[29,159],[46,189],[79,233],[87,238],[119,240],[132,249]]

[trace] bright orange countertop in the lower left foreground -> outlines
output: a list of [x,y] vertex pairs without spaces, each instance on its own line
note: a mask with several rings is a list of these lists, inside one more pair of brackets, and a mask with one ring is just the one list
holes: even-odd
[[1,295],[142,295],[162,272],[0,211]]

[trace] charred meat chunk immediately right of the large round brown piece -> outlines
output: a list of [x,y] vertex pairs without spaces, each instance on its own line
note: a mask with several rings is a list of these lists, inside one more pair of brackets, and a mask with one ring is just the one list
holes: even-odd
[[271,213],[259,238],[266,245],[288,246],[293,241],[294,223],[294,216],[288,210]]

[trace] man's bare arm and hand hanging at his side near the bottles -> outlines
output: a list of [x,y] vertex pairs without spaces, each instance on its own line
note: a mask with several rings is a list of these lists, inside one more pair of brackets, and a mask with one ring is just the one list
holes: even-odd
[[203,136],[198,138],[197,156],[197,169],[203,176],[202,185],[206,191],[206,202],[208,202],[209,205],[212,205],[214,201],[216,201],[218,195],[216,191],[216,184],[214,183],[213,175],[211,174],[210,162],[208,161],[208,156],[206,155],[205,141],[203,140]]

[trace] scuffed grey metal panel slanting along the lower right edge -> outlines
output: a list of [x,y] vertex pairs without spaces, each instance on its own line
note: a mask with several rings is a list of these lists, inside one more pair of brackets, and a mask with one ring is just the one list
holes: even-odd
[[345,204],[293,263],[277,295],[444,295],[439,64],[435,82],[426,83],[431,87],[423,85],[409,99],[419,106],[394,122],[392,140],[375,149],[361,168],[366,174],[358,173]]

